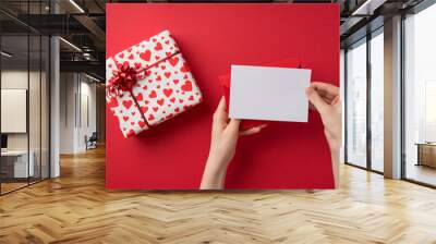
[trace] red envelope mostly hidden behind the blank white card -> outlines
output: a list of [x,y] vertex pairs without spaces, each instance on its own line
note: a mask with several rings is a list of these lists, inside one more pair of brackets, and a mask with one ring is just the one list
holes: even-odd
[[[301,62],[296,59],[286,59],[277,62],[272,62],[263,66],[278,66],[278,68],[298,68],[301,69]],[[222,85],[227,111],[229,111],[230,103],[230,74],[219,76],[219,81]],[[266,124],[266,121],[263,120],[243,120],[241,121],[240,131],[245,131],[251,127],[259,126],[262,124]]]

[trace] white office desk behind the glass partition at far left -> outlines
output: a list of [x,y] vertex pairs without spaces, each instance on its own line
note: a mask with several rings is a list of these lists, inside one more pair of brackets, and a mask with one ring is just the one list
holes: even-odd
[[[1,151],[1,171],[7,178],[27,178],[35,173],[34,158],[35,152],[29,150],[31,160],[27,168],[27,150],[7,150]],[[27,175],[28,173],[28,175]]]

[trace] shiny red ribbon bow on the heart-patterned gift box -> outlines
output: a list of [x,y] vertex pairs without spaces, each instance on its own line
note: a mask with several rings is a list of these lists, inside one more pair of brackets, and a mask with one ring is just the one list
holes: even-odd
[[113,77],[106,85],[108,95],[117,97],[121,95],[121,91],[132,91],[141,72],[143,72],[142,69],[129,66],[128,63],[121,65],[112,72]]

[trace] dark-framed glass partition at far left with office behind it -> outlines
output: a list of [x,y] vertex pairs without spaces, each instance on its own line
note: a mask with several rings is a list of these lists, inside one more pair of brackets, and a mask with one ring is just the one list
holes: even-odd
[[[0,1],[21,17],[46,5]],[[49,48],[48,36],[0,13],[0,194],[49,178]]]

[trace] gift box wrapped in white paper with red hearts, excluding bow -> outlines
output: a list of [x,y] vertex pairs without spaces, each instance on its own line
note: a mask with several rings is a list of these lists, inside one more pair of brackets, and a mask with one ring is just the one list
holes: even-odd
[[119,90],[117,95],[106,96],[124,137],[146,131],[203,101],[195,78],[168,30],[108,58],[107,85],[123,65],[142,71],[131,91]]

